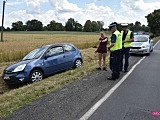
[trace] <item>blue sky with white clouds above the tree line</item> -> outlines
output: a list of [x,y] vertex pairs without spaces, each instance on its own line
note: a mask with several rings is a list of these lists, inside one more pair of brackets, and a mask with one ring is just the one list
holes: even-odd
[[[3,1],[0,2],[2,18]],[[87,20],[147,25],[147,16],[160,9],[160,0],[5,0],[4,27],[13,22],[39,20],[44,26],[55,20],[65,25],[69,18],[84,25]],[[0,26],[2,20],[0,19]]]

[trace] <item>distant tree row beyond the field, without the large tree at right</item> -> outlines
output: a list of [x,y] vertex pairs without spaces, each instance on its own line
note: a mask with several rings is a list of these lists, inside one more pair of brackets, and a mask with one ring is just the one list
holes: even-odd
[[[100,30],[107,30],[103,28],[103,21],[91,21],[87,20],[83,25],[75,21],[73,18],[69,18],[65,23],[65,26],[62,23],[58,23],[55,20],[52,20],[47,26],[43,26],[41,21],[36,19],[28,20],[25,24],[22,21],[17,21],[12,23],[12,28],[7,27],[5,31],[84,31],[84,32],[96,32]],[[118,24],[118,29],[121,25]],[[148,31],[148,27],[141,25],[140,22],[136,21],[135,24],[129,24],[129,28],[133,31]]]

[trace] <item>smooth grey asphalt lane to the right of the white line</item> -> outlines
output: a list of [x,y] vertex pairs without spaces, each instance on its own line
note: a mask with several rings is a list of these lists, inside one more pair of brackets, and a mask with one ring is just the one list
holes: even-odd
[[160,120],[160,42],[88,120]]

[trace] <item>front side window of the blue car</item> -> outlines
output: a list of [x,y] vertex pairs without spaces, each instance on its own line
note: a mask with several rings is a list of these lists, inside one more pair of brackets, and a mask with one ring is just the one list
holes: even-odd
[[62,54],[62,53],[64,53],[63,47],[56,46],[56,47],[53,47],[50,50],[48,50],[47,55],[48,56],[55,56],[55,55],[59,55],[59,54]]

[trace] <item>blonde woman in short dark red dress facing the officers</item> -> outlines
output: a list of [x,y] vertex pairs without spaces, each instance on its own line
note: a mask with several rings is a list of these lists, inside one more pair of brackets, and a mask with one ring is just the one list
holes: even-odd
[[104,33],[100,33],[101,36],[99,38],[99,43],[97,46],[97,50],[95,51],[96,53],[98,52],[98,64],[99,67],[97,68],[98,70],[101,70],[102,68],[102,59],[103,59],[103,70],[106,69],[106,55],[107,55],[107,42],[108,42],[108,37],[105,37]]

